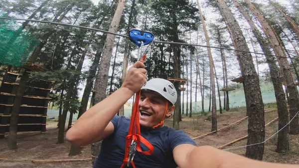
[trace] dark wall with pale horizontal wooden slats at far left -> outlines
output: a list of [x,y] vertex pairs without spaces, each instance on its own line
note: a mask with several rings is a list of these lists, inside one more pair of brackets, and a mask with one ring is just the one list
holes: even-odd
[[[5,73],[0,87],[0,139],[9,132],[11,109],[24,68],[28,71],[47,71],[33,63],[27,63],[22,68],[13,67]],[[27,81],[18,115],[17,132],[46,132],[51,85],[52,81]]]

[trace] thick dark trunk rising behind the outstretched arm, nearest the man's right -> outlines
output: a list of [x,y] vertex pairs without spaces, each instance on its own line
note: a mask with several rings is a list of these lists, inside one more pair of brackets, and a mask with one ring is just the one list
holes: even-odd
[[[260,143],[265,140],[265,116],[259,78],[253,64],[252,56],[249,53],[250,50],[237,20],[234,18],[224,0],[216,0],[216,3],[221,15],[227,21],[231,29],[236,49],[248,51],[236,52],[242,69],[245,97],[248,98],[248,103],[246,104],[249,110],[247,145]],[[248,146],[245,156],[251,159],[262,160],[263,153],[264,144]]]

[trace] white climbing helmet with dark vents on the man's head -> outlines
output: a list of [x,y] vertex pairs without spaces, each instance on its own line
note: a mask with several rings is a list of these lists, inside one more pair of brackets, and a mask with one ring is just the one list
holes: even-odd
[[177,99],[176,90],[171,82],[161,78],[150,79],[142,88],[141,91],[154,91],[167,99],[172,105]]

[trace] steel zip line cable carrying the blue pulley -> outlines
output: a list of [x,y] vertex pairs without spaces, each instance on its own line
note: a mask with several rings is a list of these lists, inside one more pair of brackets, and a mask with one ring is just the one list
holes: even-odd
[[[33,21],[33,22],[41,22],[41,23],[50,23],[50,24],[57,24],[57,25],[72,26],[72,27],[85,28],[85,29],[89,29],[89,30],[95,30],[95,31],[103,32],[103,33],[109,33],[109,34],[113,34],[113,35],[118,35],[118,36],[129,38],[128,35],[118,34],[118,33],[110,32],[110,31],[106,31],[106,30],[101,30],[101,29],[98,29],[98,28],[85,27],[85,26],[73,25],[73,24],[67,24],[67,23],[59,23],[59,22],[54,22],[54,21],[34,20],[34,19],[22,19],[22,18],[12,18],[12,17],[0,17],[0,19],[7,19],[7,20],[26,20],[26,21]],[[288,58],[288,57],[285,57],[285,56],[277,56],[277,55],[265,54],[265,53],[260,53],[260,52],[251,52],[251,51],[244,51],[244,50],[238,50],[238,49],[232,49],[232,48],[214,47],[214,46],[199,45],[199,44],[190,44],[190,43],[183,43],[183,42],[155,41],[155,40],[152,41],[152,42],[153,43],[165,43],[165,44],[178,44],[178,45],[192,45],[192,46],[199,46],[199,47],[225,49],[225,50],[231,50],[231,51],[248,52],[248,53],[261,54],[261,55],[269,55],[269,56],[275,56],[275,57]],[[291,59],[299,60],[297,58],[291,58]]]

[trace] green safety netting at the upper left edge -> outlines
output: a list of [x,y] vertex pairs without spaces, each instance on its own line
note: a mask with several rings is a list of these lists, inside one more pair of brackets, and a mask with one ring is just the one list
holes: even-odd
[[[7,17],[7,14],[0,14],[0,16]],[[23,30],[15,20],[0,19],[1,64],[23,66],[39,44],[38,38]]]

